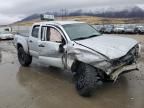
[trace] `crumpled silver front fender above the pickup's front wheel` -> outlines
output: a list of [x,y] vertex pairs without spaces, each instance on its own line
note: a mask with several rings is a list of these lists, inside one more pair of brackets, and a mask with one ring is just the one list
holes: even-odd
[[89,50],[88,48],[84,49],[73,48],[69,50],[67,54],[68,68],[71,68],[75,61],[86,63],[96,67],[95,64],[103,60],[105,60],[103,56],[94,51]]

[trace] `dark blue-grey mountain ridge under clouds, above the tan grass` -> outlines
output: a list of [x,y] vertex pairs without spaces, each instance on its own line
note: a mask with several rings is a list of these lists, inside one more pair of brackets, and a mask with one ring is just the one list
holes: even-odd
[[[114,10],[114,9],[113,9]],[[84,9],[77,9],[77,10],[67,10],[67,9],[60,9],[55,10],[53,12],[45,12],[45,14],[53,14],[56,17],[59,16],[97,16],[97,17],[106,17],[106,18],[144,18],[144,10],[138,6],[134,6],[132,8],[125,8],[122,10],[105,10],[104,12],[98,12],[97,10],[84,10]],[[33,14],[24,19],[23,21],[31,21],[35,19],[40,19],[40,14]]]

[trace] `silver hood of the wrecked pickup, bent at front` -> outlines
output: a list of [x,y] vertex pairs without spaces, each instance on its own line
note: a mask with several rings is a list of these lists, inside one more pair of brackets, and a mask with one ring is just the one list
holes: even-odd
[[110,59],[120,58],[126,55],[138,42],[131,38],[118,36],[97,36],[76,41],[78,44],[91,48]]

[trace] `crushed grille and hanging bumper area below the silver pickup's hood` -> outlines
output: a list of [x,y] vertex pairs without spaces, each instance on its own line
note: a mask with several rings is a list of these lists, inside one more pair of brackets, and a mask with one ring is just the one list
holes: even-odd
[[[130,72],[131,70],[138,70],[137,60],[140,57],[140,46],[137,44],[125,56],[110,60],[110,62],[102,62],[97,67],[101,68],[110,76],[112,80],[116,80],[119,75]],[[105,63],[105,64],[104,64]],[[99,66],[100,65],[100,66]]]

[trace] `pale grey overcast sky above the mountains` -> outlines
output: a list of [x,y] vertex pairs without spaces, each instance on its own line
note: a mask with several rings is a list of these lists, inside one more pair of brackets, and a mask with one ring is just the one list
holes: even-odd
[[117,7],[119,5],[139,5],[144,8],[144,0],[0,0],[0,25],[49,9]]

